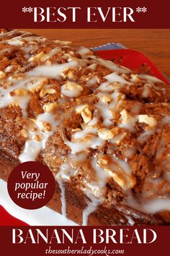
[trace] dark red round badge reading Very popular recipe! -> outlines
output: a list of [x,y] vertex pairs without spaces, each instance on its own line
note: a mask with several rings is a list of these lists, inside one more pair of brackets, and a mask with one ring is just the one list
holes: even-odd
[[55,178],[42,163],[30,161],[16,166],[9,175],[8,192],[12,200],[24,209],[46,205],[55,192]]

